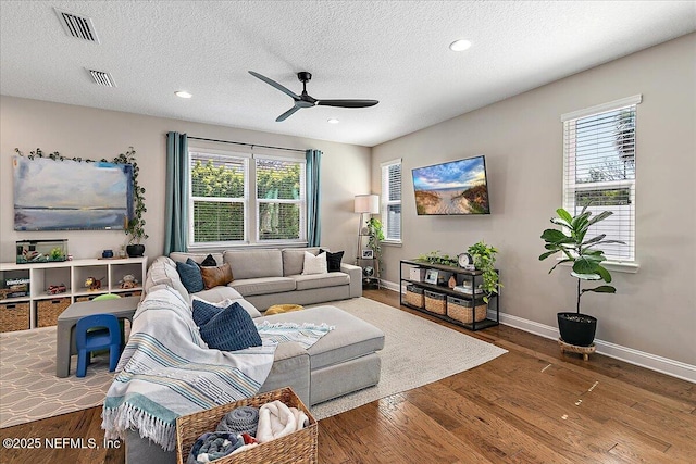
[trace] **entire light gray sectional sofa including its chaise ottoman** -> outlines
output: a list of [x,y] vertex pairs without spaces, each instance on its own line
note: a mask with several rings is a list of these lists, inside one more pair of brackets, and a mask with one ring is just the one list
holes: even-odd
[[[298,256],[303,256],[303,251],[304,249],[300,254],[299,250],[253,250],[214,255],[216,260],[220,260],[217,263],[231,263],[235,278],[228,286],[203,290],[195,294],[211,302],[226,299],[235,300],[254,321],[298,324],[325,323],[335,326],[334,330],[307,350],[295,342],[281,343],[275,351],[271,373],[259,390],[259,392],[265,392],[289,386],[306,405],[311,406],[376,385],[380,381],[381,373],[377,351],[384,347],[384,334],[371,324],[332,305],[319,305],[302,311],[262,316],[251,303],[252,301],[261,302],[262,306],[268,308],[268,305],[275,303],[320,303],[322,298],[336,300],[355,294],[351,291],[352,284],[355,281],[361,284],[360,274],[357,278],[352,275],[351,267],[346,268],[348,272],[346,277],[322,274],[318,276],[316,280],[302,278],[310,277],[302,276],[301,267],[297,266],[300,262]],[[191,255],[188,253],[173,253],[172,255],[179,261],[192,258],[198,262],[206,256],[207,254]],[[244,266],[243,263],[245,263]],[[278,266],[282,266],[284,272],[281,272]],[[262,271],[258,271],[259,268]],[[294,290],[290,289],[290,281],[295,286]],[[142,300],[148,300],[148,291],[151,288],[159,288],[162,285],[173,288],[183,298],[190,301],[191,296],[187,293],[179,279],[175,262],[166,256],[160,256],[152,262],[146,276]],[[265,289],[266,293],[263,293],[261,289]],[[358,292],[359,294],[360,292]],[[142,311],[138,315],[140,318],[138,324],[147,324],[148,311]],[[137,325],[134,328],[137,328]],[[176,462],[175,451],[165,451],[161,446],[147,438],[141,438],[139,430],[127,430],[125,442],[126,463]]]

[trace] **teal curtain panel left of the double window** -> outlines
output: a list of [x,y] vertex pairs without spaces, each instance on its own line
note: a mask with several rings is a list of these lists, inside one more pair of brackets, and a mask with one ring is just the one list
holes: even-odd
[[186,251],[188,240],[188,139],[186,134],[166,135],[166,198],[164,254]]

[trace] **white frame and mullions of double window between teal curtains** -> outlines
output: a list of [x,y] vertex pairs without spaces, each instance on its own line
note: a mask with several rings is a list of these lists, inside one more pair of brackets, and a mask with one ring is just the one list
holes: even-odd
[[[231,159],[243,160],[244,162],[244,198],[243,199],[227,199],[224,197],[194,197],[192,195],[192,178],[191,178],[191,165],[195,160],[200,156],[195,153],[213,154],[217,156],[228,156]],[[257,187],[257,161],[258,160],[276,160],[293,162],[299,164],[300,172],[300,196],[297,200],[283,200],[276,199],[273,203],[299,203],[300,217],[299,217],[299,238],[298,239],[261,239],[260,238],[260,204],[268,203],[266,199],[258,199]],[[188,162],[186,163],[186,176],[188,178],[188,197],[186,208],[189,214],[188,225],[188,250],[206,250],[206,249],[221,249],[221,248],[243,248],[243,247],[297,247],[307,244],[307,160],[304,156],[275,156],[266,154],[244,153],[234,150],[221,150],[207,148],[203,146],[189,146],[188,147]],[[241,240],[228,240],[228,241],[196,241],[194,229],[194,202],[195,201],[220,201],[237,202],[243,204],[243,230],[244,239]],[[241,200],[241,201],[239,201]]]

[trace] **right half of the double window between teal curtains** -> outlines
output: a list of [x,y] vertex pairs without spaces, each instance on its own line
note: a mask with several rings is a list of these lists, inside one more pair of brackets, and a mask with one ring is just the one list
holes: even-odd
[[256,160],[257,239],[304,240],[304,161]]

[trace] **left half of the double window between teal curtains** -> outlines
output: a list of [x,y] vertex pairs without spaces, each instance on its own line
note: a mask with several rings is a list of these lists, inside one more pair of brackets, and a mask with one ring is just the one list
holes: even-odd
[[247,160],[194,151],[189,160],[189,242],[245,240]]

